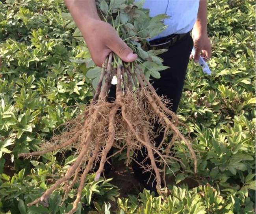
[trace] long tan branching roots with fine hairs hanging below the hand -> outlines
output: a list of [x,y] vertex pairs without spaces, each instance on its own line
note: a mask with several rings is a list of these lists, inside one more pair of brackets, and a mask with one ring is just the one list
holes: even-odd
[[[170,102],[158,96],[154,87],[139,70],[138,65],[135,65],[137,69],[132,72],[130,67],[126,69],[122,65],[119,65],[117,69],[114,68],[112,61],[113,53],[109,54],[102,66],[98,87],[91,104],[87,106],[82,115],[65,124],[67,131],[54,136],[50,142],[43,144],[40,151],[19,155],[28,158],[48,152],[65,152],[70,148],[74,151],[73,154],[77,155],[65,175],[56,179],[55,183],[40,198],[28,206],[41,201],[47,203],[50,194],[59,189],[65,191],[65,199],[74,185],[79,183],[77,196],[69,214],[74,213],[81,200],[85,179],[90,170],[97,162],[99,163],[95,175],[95,180],[98,180],[104,172],[104,164],[108,159],[125,149],[127,149],[125,151],[127,165],[130,160],[136,162],[135,158],[130,156],[134,151],[138,152],[143,147],[147,150],[150,166],[144,166],[143,162],[138,164],[143,167],[145,172],[150,172],[151,176],[155,177],[156,188],[159,192],[161,188],[160,173],[163,171],[165,177],[165,168],[168,162],[177,161],[185,167],[181,160],[173,157],[171,146],[174,142],[180,140],[186,144],[194,161],[195,172],[197,172],[195,151],[187,138],[180,133],[177,125],[182,125],[182,123],[167,107]],[[109,103],[107,101],[108,91],[116,72],[116,100]],[[161,129],[154,131],[153,124],[155,123],[160,124]],[[154,138],[160,132],[164,133],[164,139],[160,145],[156,145]],[[165,138],[170,135],[173,135],[173,140],[168,145]],[[112,147],[118,148],[118,151],[108,157],[108,152]],[[134,155],[136,156],[136,153]],[[163,164],[163,170],[159,167],[160,164]],[[163,180],[165,182],[165,178]]]

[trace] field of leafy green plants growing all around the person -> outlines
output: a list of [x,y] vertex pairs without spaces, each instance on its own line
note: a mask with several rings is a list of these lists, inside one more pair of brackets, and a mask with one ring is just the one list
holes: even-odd
[[[255,213],[255,2],[208,0],[208,33],[212,75],[189,63],[177,112],[191,131],[198,172],[186,144],[176,144],[175,157],[184,165],[170,163],[168,188],[155,196],[136,184],[121,153],[113,158],[115,173],[108,179],[86,177],[76,213]],[[77,185],[68,196],[54,191],[48,206],[27,204],[41,197],[76,156],[18,155],[37,151],[57,127],[83,112],[93,98],[95,77],[62,0],[0,0],[0,213],[72,209]],[[121,174],[127,175],[121,179]],[[127,186],[130,191],[123,190]]]

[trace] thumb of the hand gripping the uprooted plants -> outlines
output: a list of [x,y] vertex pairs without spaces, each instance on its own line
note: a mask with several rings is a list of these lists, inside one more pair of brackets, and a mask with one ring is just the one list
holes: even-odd
[[129,48],[118,36],[113,38],[112,42],[108,45],[108,48],[126,63],[131,63],[137,59],[137,54],[134,54],[131,48]]

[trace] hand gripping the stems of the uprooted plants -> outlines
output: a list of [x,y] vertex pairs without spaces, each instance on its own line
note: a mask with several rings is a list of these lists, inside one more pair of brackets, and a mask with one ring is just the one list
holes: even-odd
[[97,66],[102,66],[111,51],[127,63],[137,59],[137,54],[133,54],[132,49],[122,41],[115,29],[106,22],[91,19],[84,26],[82,34]]

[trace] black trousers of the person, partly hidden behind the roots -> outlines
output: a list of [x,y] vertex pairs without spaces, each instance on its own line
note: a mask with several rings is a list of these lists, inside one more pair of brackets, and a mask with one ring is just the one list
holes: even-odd
[[[169,50],[161,55],[163,59],[163,65],[169,66],[167,70],[161,71],[160,79],[152,79],[151,83],[156,89],[156,92],[159,96],[166,96],[167,99],[171,100],[172,105],[169,107],[173,112],[177,111],[178,104],[182,95],[182,90],[184,86],[187,64],[189,62],[189,56],[193,48],[193,40],[189,34],[176,42]],[[115,98],[115,85],[112,85],[109,92],[109,101]],[[157,124],[156,124],[157,128]],[[155,138],[156,146],[158,146],[163,139],[163,133]],[[109,154],[113,153],[110,151]],[[145,165],[150,164],[150,160],[147,159],[147,151],[143,148],[142,152],[137,152],[137,155],[134,156],[134,159],[137,162]],[[141,179],[148,179],[150,173],[143,173],[143,169],[136,162],[132,163],[132,168],[134,173]],[[107,173],[108,166],[106,166],[105,171]]]

